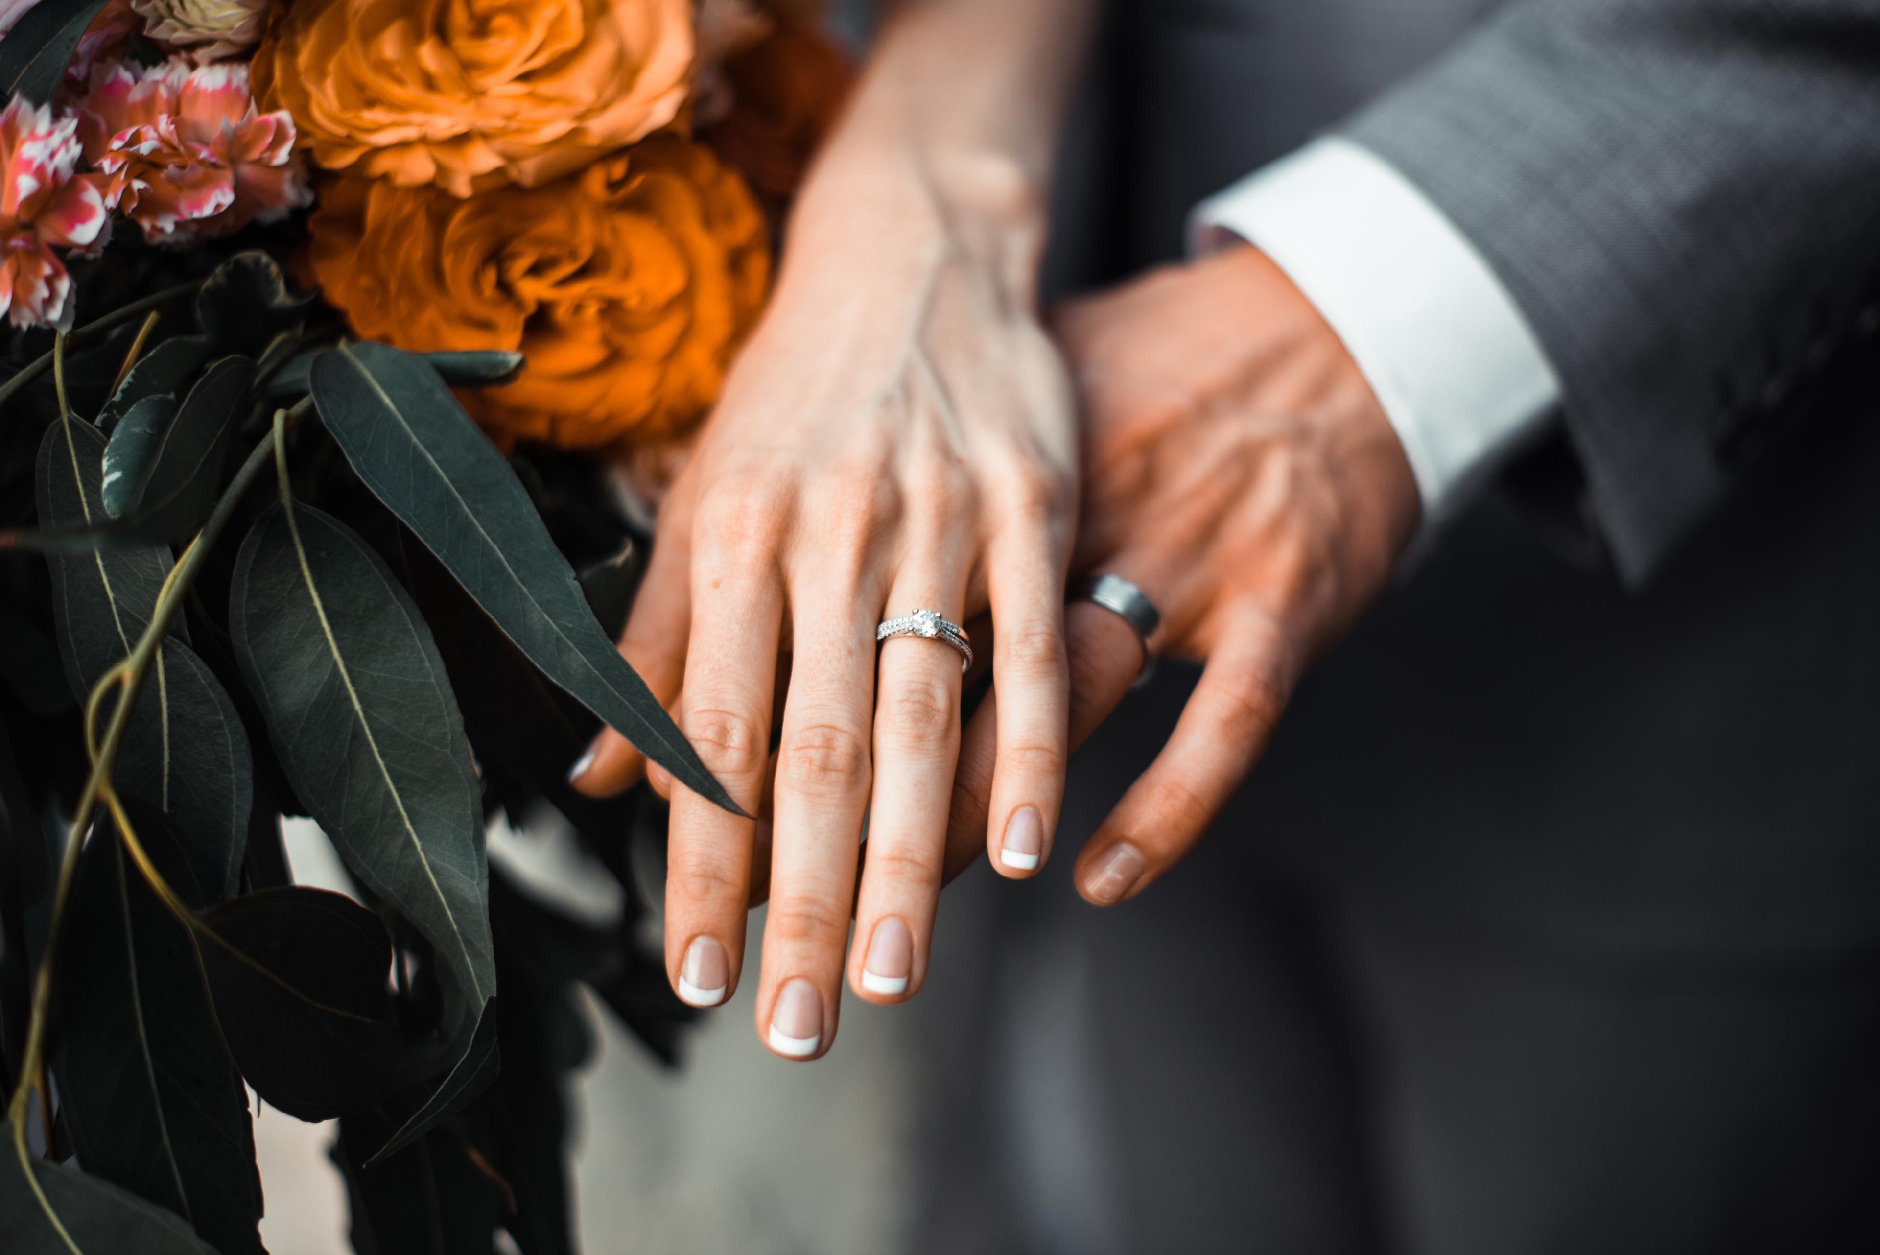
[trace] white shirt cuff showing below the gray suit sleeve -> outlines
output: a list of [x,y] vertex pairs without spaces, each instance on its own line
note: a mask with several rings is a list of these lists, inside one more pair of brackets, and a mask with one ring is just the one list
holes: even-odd
[[1265,252],[1339,333],[1433,519],[1542,421],[1560,382],[1476,246],[1393,166],[1327,135],[1196,207],[1196,250]]

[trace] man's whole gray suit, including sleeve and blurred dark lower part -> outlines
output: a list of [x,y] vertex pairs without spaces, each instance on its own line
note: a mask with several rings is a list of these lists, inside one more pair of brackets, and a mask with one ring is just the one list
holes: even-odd
[[1064,873],[1194,674],[1073,762],[1002,1016],[1081,1056],[1002,1110],[1083,1150],[1013,1168],[1025,1242],[1880,1249],[1880,4],[1117,4],[1051,282],[1324,130],[1562,414],[1109,913]]

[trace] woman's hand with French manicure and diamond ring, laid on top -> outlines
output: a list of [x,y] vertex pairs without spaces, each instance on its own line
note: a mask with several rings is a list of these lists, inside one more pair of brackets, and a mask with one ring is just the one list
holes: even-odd
[[[1017,21],[979,0],[951,9]],[[936,75],[923,96],[912,49],[931,58],[961,36],[901,34],[902,60],[884,49],[889,70],[870,71],[797,205],[771,309],[662,508],[622,640],[731,796],[752,815],[769,796],[758,1031],[791,1057],[835,1035],[852,909],[857,995],[901,1001],[927,969],[961,655],[921,638],[878,649],[882,619],[991,613],[987,839],[1017,850],[1010,867],[1036,866],[1064,788],[1075,433],[1036,316],[1043,160],[910,128],[946,87]],[[983,47],[966,40],[959,56]],[[575,783],[613,792],[637,770],[607,734]],[[714,1005],[743,967],[758,824],[675,794],[667,969],[682,997]]]

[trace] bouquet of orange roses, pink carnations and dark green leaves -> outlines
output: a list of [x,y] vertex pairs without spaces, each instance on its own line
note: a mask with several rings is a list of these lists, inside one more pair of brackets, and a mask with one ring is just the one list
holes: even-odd
[[[261,1251],[261,1104],[338,1120],[361,1251],[572,1249],[577,986],[686,1010],[656,800],[564,771],[605,721],[731,805],[613,649],[617,469],[844,83],[803,4],[0,0],[0,1251]],[[543,807],[617,916],[491,866]]]

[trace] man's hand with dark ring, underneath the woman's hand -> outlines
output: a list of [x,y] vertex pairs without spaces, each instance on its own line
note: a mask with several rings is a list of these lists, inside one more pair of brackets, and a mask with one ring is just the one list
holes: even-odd
[[[1344,344],[1265,254],[1237,246],[1075,301],[1058,335],[1083,406],[1075,570],[1162,612],[1152,645],[1205,660],[1175,734],[1077,858],[1098,905],[1139,894],[1252,770],[1301,670],[1371,604],[1416,531],[1410,463]],[[1066,613],[1072,743],[1128,692],[1141,647]],[[948,871],[985,845],[996,694],[966,730]]]

